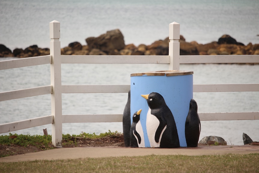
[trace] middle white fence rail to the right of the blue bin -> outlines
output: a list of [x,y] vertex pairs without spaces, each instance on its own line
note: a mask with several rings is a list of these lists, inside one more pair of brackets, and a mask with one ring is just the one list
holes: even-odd
[[259,91],[259,84],[196,84],[193,92]]

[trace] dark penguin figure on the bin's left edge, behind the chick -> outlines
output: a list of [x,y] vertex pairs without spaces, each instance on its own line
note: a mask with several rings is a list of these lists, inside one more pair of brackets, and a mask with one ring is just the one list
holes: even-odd
[[123,111],[122,127],[125,147],[130,147],[130,91],[128,93],[128,101]]

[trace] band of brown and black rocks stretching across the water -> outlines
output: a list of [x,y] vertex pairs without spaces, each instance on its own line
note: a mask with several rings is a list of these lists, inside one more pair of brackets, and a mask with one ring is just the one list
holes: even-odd
[[[134,44],[125,45],[124,37],[119,29],[107,31],[98,37],[89,37],[86,45],[72,42],[67,47],[61,48],[62,55],[168,55],[169,38],[157,40],[151,45]],[[180,36],[180,55],[258,55],[259,44],[249,43],[244,45],[237,42],[229,35],[221,36],[218,41],[208,44],[199,44],[195,41],[186,42]],[[49,55],[49,48],[38,48],[37,45],[29,46],[24,50],[16,48],[11,51],[0,44],[0,57],[34,57]]]

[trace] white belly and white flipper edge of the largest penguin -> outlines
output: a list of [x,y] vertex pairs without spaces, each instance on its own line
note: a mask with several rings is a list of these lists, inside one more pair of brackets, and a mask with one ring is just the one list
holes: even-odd
[[163,131],[160,134],[159,141],[156,142],[155,134],[156,134],[159,124],[160,124],[159,120],[157,119],[156,116],[151,114],[151,109],[149,108],[148,113],[147,113],[146,127],[147,127],[147,134],[148,134],[148,140],[150,143],[150,147],[160,147],[160,141],[161,141],[163,132],[166,130],[166,126],[163,128]]

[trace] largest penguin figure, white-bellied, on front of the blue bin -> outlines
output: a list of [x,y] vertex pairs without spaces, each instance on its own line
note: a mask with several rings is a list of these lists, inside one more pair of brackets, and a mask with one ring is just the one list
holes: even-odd
[[163,96],[156,92],[141,96],[149,107],[146,128],[150,147],[180,147],[175,119]]

